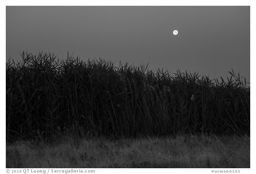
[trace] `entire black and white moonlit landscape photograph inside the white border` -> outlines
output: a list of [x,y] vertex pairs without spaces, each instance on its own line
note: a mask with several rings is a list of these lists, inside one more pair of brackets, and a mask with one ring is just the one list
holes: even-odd
[[250,169],[250,12],[6,6],[6,168]]

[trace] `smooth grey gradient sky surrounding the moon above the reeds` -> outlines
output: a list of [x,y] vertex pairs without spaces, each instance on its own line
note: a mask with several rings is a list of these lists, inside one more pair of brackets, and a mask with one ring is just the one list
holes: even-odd
[[7,6],[6,60],[23,50],[250,81],[250,7]]

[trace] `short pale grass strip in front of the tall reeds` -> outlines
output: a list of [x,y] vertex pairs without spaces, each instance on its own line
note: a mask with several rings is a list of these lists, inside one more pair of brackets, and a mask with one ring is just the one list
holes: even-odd
[[71,139],[6,145],[7,168],[250,168],[250,137]]

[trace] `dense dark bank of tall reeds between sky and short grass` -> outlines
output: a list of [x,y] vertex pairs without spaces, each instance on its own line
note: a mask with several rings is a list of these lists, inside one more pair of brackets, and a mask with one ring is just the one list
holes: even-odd
[[198,73],[147,70],[21,53],[6,62],[6,139],[61,132],[133,138],[182,134],[250,135],[250,90]]

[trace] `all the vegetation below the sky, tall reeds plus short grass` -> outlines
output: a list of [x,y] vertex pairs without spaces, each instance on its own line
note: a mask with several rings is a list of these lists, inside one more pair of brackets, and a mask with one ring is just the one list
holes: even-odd
[[250,90],[233,70],[21,56],[6,62],[7,167],[250,167]]

